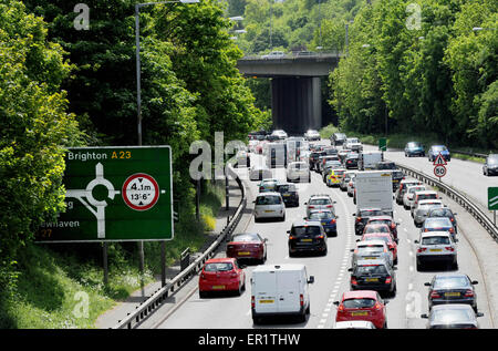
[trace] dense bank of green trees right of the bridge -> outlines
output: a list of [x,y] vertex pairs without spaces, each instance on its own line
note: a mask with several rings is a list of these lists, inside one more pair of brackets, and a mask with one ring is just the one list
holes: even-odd
[[497,148],[496,1],[418,1],[418,22],[411,3],[373,1],[354,18],[350,55],[330,75],[341,126]]

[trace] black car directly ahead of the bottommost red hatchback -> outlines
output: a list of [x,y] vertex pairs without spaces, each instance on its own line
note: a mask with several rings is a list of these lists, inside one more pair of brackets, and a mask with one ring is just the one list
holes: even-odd
[[361,259],[351,271],[351,290],[385,291],[390,296],[396,295],[396,268],[382,258]]

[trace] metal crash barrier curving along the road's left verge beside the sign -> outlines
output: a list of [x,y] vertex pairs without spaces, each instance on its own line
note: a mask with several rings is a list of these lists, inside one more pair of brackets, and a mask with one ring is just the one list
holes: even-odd
[[162,303],[168,298],[169,293],[174,292],[176,289],[179,289],[187,280],[203,270],[204,264],[216,254],[224,239],[231,236],[235,228],[239,224],[240,218],[242,217],[243,210],[246,209],[247,196],[246,188],[237,173],[231,166],[228,166],[227,169],[228,175],[237,182],[242,195],[239,206],[237,207],[237,211],[231,217],[230,221],[218,235],[215,242],[212,242],[200,257],[198,257],[187,268],[181,270],[175,278],[167,282],[166,286],[154,292],[146,301],[138,306],[133,313],[128,313],[125,319],[120,320],[113,329],[132,329],[134,326],[141,323],[149,313],[162,306]]

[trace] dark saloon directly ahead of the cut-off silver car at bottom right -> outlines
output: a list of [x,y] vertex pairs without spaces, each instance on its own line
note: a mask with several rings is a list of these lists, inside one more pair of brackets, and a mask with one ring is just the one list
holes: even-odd
[[445,273],[436,275],[430,282],[424,283],[428,288],[428,307],[446,303],[470,304],[477,312],[477,295],[474,288],[477,280],[470,280],[467,275]]

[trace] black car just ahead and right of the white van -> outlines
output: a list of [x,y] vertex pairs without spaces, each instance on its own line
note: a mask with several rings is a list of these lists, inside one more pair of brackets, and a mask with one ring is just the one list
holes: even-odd
[[297,220],[287,233],[289,234],[289,257],[293,257],[298,252],[326,255],[326,233],[320,221]]

